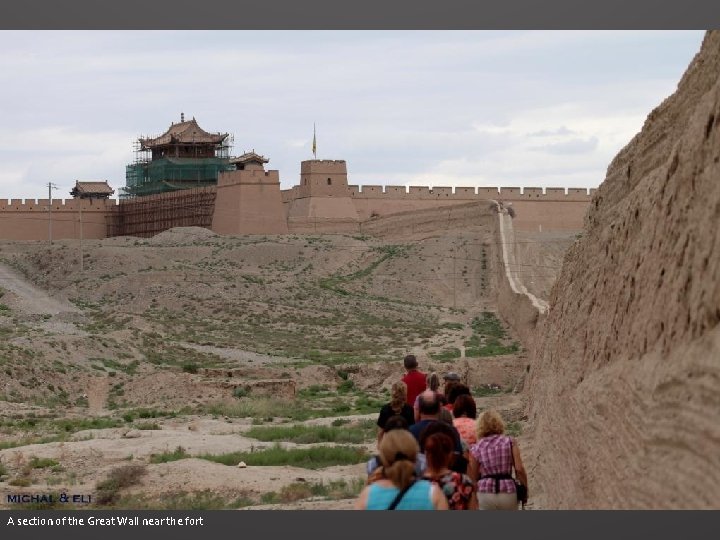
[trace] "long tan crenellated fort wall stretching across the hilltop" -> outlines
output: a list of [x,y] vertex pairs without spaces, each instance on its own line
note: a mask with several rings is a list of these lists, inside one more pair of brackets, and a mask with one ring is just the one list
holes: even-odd
[[[303,165],[308,162],[303,162]],[[327,162],[317,162],[324,165]],[[340,164],[344,170],[344,161]],[[314,163],[313,163],[314,164]],[[238,171],[240,172],[240,171]],[[274,174],[274,181],[273,176]],[[337,176],[343,177],[344,174]],[[262,181],[258,181],[261,178]],[[331,193],[279,189],[277,171],[221,173],[217,186],[128,200],[0,199],[0,238],[99,239],[151,236],[172,227],[206,227],[218,234],[346,233],[371,229],[380,217],[469,203],[502,201],[521,231],[576,231],[594,189],[339,185]]]

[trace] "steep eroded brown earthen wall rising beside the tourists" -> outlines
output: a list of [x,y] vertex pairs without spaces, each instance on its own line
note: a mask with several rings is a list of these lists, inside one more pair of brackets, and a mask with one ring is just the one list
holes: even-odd
[[718,508],[720,33],[617,155],[528,380],[549,508]]

